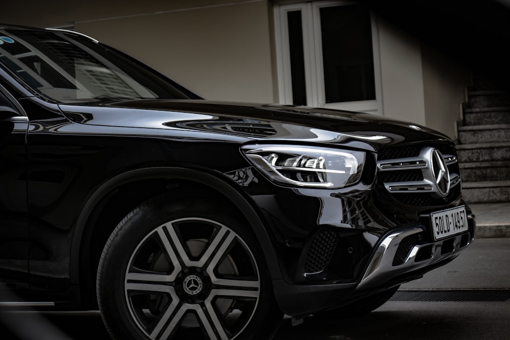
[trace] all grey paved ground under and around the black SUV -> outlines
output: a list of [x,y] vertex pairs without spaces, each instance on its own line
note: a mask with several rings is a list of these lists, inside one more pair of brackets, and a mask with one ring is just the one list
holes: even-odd
[[[371,339],[508,339],[510,334],[510,238],[476,240],[448,265],[400,287],[397,294],[455,293],[506,294],[504,301],[399,301],[387,302],[362,318],[324,320],[307,318],[291,326],[286,317],[275,340]],[[403,292],[403,293],[402,293]],[[397,296],[397,295],[396,295]],[[415,299],[419,300],[419,299]],[[12,315],[12,312],[9,314]],[[57,340],[37,328],[39,315],[18,312],[17,322],[31,337]],[[98,312],[47,312],[42,318],[60,329],[58,340],[103,340],[108,333]],[[45,327],[45,326],[43,326]],[[6,333],[0,339],[8,340]]]

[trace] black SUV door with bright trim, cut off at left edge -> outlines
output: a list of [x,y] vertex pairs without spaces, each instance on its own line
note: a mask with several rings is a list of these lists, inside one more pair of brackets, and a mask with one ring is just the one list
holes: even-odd
[[0,305],[29,289],[28,117],[0,85]]

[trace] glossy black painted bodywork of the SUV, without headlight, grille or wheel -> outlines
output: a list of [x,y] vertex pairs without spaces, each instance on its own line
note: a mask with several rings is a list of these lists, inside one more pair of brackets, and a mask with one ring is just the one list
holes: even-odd
[[[0,83],[11,103],[7,120],[0,120],[6,188],[0,280],[24,290],[23,298],[53,299],[62,308],[94,307],[97,262],[111,231],[138,204],[175,188],[226,198],[245,216],[284,311],[307,311],[296,305],[297,295],[315,298],[313,308],[347,301],[380,238],[402,226],[427,228],[422,216],[437,210],[389,199],[377,186],[377,153],[396,145],[453,145],[423,126],[369,114],[203,99],[60,103],[2,68]],[[26,119],[14,121],[19,117]],[[245,158],[246,143],[363,150],[367,161],[361,181],[350,187],[284,187]],[[460,204],[459,195],[445,206]],[[328,271],[303,275],[312,237],[322,228],[339,230],[338,259]]]

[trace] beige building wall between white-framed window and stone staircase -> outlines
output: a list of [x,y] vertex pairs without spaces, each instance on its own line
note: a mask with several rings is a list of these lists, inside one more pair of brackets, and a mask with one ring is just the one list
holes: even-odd
[[384,115],[455,139],[469,71],[389,22],[378,29]]

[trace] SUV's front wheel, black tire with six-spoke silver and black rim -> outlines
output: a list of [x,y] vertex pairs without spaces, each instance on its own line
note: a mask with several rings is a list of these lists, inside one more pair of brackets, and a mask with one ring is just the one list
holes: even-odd
[[116,339],[271,339],[281,323],[262,249],[214,199],[138,206],[99,261],[97,299]]

